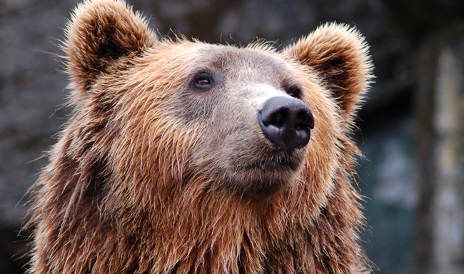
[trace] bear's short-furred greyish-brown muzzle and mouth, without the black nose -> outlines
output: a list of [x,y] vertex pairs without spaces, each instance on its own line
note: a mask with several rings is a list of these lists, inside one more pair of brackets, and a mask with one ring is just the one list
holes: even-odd
[[263,134],[258,113],[270,98],[291,96],[268,86],[234,95],[211,117],[194,166],[202,166],[216,188],[252,196],[277,193],[301,173],[307,150],[278,153]]

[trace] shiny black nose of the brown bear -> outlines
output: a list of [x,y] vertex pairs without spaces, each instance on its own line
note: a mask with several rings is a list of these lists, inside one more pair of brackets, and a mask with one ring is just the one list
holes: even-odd
[[303,101],[289,97],[269,98],[258,122],[264,136],[284,151],[306,146],[314,128],[313,114]]

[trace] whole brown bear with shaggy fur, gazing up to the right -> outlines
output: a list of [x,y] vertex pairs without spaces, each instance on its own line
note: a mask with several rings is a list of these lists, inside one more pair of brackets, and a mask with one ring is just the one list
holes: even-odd
[[357,31],[283,49],[160,38],[84,1],[62,48],[71,118],[34,186],[30,273],[365,273]]

